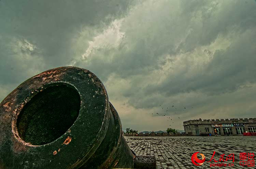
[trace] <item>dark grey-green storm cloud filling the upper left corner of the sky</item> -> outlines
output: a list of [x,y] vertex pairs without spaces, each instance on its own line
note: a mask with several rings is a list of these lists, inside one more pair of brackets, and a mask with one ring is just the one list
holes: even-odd
[[[27,69],[43,71],[68,64],[74,55],[70,47],[74,36],[84,27],[89,27],[84,36],[84,39],[89,40],[94,36],[94,31],[102,30],[102,25],[124,13],[128,3],[1,1],[1,82],[22,82],[35,73],[28,75]],[[27,43],[25,41],[37,46],[40,53],[36,50],[33,51],[35,53],[27,53],[24,49]],[[86,45],[85,43],[85,48]],[[31,58],[24,57],[25,55]]]

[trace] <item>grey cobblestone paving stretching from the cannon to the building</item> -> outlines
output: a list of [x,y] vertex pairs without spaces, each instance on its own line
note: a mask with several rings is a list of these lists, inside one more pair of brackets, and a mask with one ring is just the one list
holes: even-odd
[[[191,168],[255,168],[240,166],[240,153],[254,153],[256,162],[255,136],[181,136],[181,137],[125,137],[129,147],[137,155],[155,155],[157,169],[191,169]],[[218,162],[211,162],[212,155]],[[205,155],[205,162],[195,166],[191,162],[191,155],[200,152]],[[226,160],[229,154],[234,154],[232,160],[219,162],[222,154]],[[198,154],[198,158],[200,159]],[[210,167],[210,164],[227,164],[226,167]],[[228,165],[234,166],[228,166]]]

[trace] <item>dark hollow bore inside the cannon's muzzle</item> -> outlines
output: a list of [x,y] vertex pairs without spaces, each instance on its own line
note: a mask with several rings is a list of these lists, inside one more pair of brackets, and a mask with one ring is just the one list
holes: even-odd
[[19,137],[31,145],[44,145],[63,135],[76,120],[80,95],[64,84],[48,87],[32,97],[17,118]]

